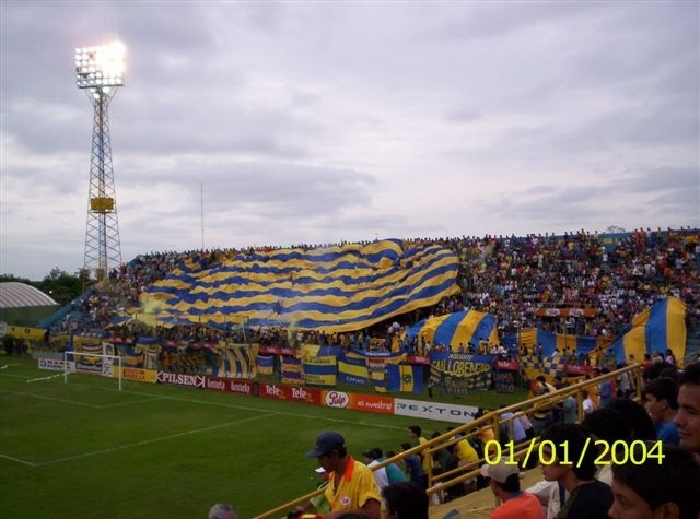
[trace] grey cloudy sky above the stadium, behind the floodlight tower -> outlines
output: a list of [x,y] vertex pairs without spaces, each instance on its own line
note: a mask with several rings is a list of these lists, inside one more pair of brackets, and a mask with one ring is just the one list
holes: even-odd
[[695,1],[0,10],[1,273],[83,264],[93,113],[74,49],[116,39],[124,260],[202,234],[213,248],[700,226]]

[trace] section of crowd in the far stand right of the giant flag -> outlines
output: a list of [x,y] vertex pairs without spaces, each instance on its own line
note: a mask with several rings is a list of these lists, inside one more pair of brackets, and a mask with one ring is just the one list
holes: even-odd
[[[697,326],[698,229],[487,236],[445,245],[459,256],[465,304],[495,316],[502,332],[539,327],[614,337],[634,315],[668,295],[689,305],[692,328]],[[535,315],[538,308],[591,308],[596,314],[541,318]]]

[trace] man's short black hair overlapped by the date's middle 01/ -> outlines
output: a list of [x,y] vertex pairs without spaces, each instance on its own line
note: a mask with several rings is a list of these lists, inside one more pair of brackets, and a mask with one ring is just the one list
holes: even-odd
[[[597,470],[595,460],[598,452],[593,448],[593,439],[581,425],[555,424],[542,433],[540,439],[553,444],[557,460],[573,461],[571,468],[579,480],[593,480]],[[562,447],[562,444],[565,447]]]

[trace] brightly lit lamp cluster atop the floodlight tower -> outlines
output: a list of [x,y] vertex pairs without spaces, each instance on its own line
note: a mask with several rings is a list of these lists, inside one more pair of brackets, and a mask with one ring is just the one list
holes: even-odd
[[124,86],[125,51],[121,43],[102,47],[77,48],[78,87],[103,91],[110,86]]

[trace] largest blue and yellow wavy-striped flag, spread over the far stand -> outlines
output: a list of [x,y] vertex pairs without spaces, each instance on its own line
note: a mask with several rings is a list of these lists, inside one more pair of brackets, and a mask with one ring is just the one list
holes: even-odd
[[[456,255],[386,239],[188,261],[141,296],[139,320],[354,331],[459,292]],[[147,319],[148,317],[148,319]]]

